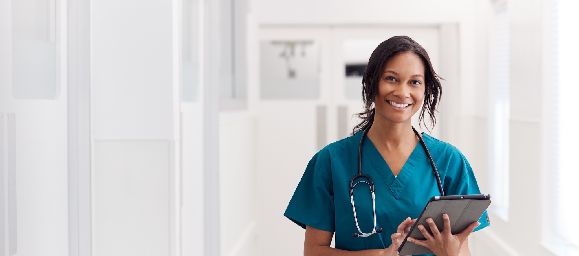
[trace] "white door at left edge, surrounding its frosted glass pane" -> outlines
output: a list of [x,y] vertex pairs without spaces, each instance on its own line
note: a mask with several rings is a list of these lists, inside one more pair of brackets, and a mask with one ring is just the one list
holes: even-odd
[[[5,229],[16,228],[16,236],[9,238],[8,232],[0,230],[0,239],[5,239],[5,250],[0,255],[68,253],[67,12],[66,5],[58,6],[61,22],[57,41],[62,50],[57,50],[61,62],[56,77],[60,80],[60,91],[57,90],[53,100],[15,100],[12,97],[11,1],[0,1],[0,112],[4,113],[5,120],[8,119],[6,113],[16,113],[16,220],[8,219],[8,205],[0,208],[6,210],[6,219],[0,221],[5,221]],[[0,125],[6,127],[6,123]],[[6,128],[4,130],[6,136]],[[6,172],[1,175],[6,182]],[[2,189],[6,195],[8,183],[2,184]],[[9,202],[6,199],[2,203]]]

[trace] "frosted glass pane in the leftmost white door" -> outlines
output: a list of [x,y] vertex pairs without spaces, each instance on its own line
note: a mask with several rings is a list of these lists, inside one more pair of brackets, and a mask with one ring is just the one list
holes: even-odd
[[12,96],[55,98],[56,0],[12,1]]

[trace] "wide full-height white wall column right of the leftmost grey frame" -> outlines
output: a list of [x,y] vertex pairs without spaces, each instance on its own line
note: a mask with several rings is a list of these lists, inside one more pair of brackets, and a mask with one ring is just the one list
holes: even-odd
[[176,4],[91,3],[93,255],[180,248]]

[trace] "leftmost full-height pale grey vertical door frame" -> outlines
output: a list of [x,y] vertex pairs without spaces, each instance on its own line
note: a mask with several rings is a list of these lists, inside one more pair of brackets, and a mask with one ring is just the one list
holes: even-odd
[[66,4],[68,255],[90,256],[92,254],[90,0],[68,0]]

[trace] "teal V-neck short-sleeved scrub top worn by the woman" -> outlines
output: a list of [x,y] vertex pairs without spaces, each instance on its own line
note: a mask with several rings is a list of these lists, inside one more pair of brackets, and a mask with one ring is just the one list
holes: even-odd
[[[312,226],[335,232],[335,248],[367,250],[387,248],[390,236],[407,217],[417,218],[428,200],[439,196],[434,170],[422,144],[417,143],[398,173],[390,170],[372,141],[366,136],[362,145],[362,173],[374,182],[376,195],[376,229],[383,232],[369,237],[352,237],[359,233],[350,202],[350,180],[358,174],[358,147],[362,132],[327,145],[307,164],[301,181],[285,210],[285,217],[302,228]],[[438,169],[446,195],[480,194],[470,164],[459,149],[423,133]],[[366,180],[357,178],[357,181]],[[354,188],[358,225],[364,233],[372,231],[372,193],[365,183]],[[474,231],[489,225],[487,213],[482,215]]]

